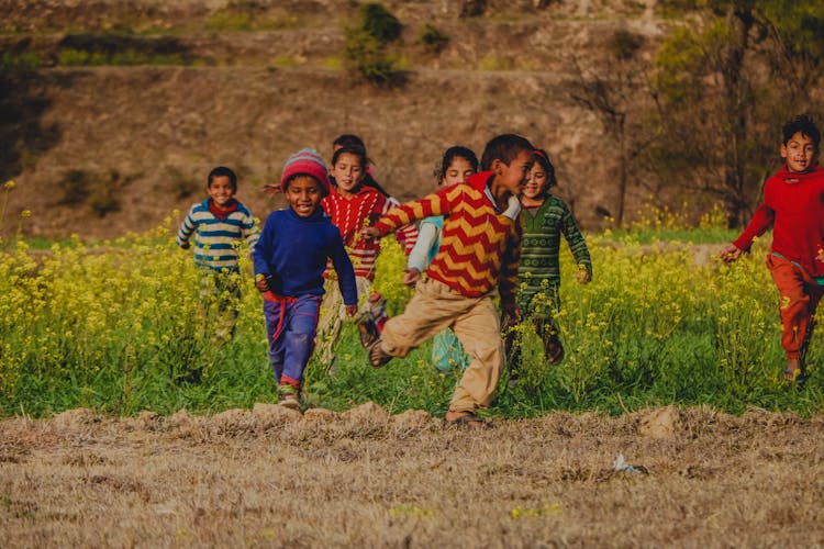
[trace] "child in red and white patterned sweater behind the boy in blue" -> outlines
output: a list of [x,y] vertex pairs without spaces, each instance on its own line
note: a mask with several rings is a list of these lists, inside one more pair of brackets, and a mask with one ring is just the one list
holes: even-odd
[[[389,210],[387,198],[374,187],[364,184],[366,176],[366,150],[357,145],[348,145],[335,150],[330,173],[333,187],[321,205],[332,223],[337,226],[344,245],[355,267],[360,306],[357,317],[360,343],[368,347],[378,338],[378,328],[370,312],[369,296],[375,279],[375,262],[380,253],[380,244],[360,237],[364,226],[372,225],[382,213]],[[330,281],[334,274],[327,270]],[[323,300],[321,320],[318,325],[318,347],[321,361],[332,363],[334,347],[343,326],[341,293],[330,284]]]

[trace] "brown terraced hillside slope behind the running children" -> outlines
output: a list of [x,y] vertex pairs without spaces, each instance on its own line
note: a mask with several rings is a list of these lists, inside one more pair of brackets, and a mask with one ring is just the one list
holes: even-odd
[[[209,30],[233,5],[220,1],[0,0],[4,51],[47,60],[0,76],[0,177],[18,183],[3,234],[21,210],[32,212],[24,223],[32,235],[144,231],[200,200],[216,165],[238,171],[241,200],[263,217],[279,203],[260,188],[288,155],[304,146],[329,154],[341,133],[365,138],[378,180],[402,200],[428,192],[444,148],[465,144],[480,154],[495,134],[523,134],[549,150],[559,193],[594,227],[613,208],[615,164],[598,120],[570,99],[571,61],[609,70],[604,41],[624,27],[647,38],[648,58],[667,24],[655,19],[653,0],[522,2],[508,11],[488,2],[477,18],[459,18],[457,1],[387,2],[404,24],[400,53],[410,72],[405,86],[379,89],[342,68],[346,2],[252,3],[269,10],[261,21],[274,13],[288,24]],[[48,66],[67,43],[111,41],[119,21],[131,22],[122,40],[145,48],[165,41],[183,61]],[[439,55],[417,43],[424,23],[450,37]],[[79,24],[92,34],[54,32]]]

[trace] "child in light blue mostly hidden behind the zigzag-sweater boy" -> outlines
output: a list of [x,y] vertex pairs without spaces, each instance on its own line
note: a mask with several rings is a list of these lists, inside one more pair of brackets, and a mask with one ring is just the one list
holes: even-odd
[[[441,166],[435,170],[438,187],[449,187],[463,183],[478,171],[478,157],[471,149],[461,146],[449,147],[444,153]],[[437,254],[441,246],[441,232],[444,228],[444,216],[433,215],[424,217],[417,227],[417,242],[409,254],[403,283],[414,287]],[[447,328],[435,334],[432,339],[432,362],[439,372],[453,369],[464,371],[469,365],[469,357],[455,337],[455,333]]]

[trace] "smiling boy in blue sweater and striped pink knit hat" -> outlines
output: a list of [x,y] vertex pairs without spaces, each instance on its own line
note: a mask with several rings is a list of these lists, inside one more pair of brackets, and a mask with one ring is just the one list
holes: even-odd
[[303,369],[314,348],[329,258],[337,271],[348,316],[357,312],[358,295],[341,232],[320,205],[330,192],[330,181],[326,164],[316,150],[304,148],[289,157],[280,189],[289,209],[269,214],[252,258],[255,287],[264,294],[278,402],[298,410]]

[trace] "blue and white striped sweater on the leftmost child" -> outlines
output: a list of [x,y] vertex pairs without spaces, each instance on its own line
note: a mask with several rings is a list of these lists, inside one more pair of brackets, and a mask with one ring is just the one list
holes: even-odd
[[245,239],[255,246],[259,231],[252,212],[237,203],[237,210],[221,220],[209,210],[205,199],[193,204],[177,232],[178,246],[185,247],[194,234],[194,261],[209,269],[237,270],[237,247]]

